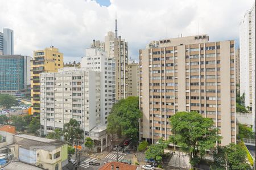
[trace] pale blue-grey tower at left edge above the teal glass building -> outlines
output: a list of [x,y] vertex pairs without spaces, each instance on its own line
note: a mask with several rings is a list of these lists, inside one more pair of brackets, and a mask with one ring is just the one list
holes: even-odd
[[0,55],[13,55],[13,30],[3,28],[0,32]]

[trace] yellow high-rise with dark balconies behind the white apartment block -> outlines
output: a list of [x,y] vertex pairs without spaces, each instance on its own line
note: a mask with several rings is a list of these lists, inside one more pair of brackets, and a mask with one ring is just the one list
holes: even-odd
[[63,53],[51,46],[44,50],[34,51],[31,60],[31,114],[40,114],[40,80],[42,72],[57,72],[63,68]]

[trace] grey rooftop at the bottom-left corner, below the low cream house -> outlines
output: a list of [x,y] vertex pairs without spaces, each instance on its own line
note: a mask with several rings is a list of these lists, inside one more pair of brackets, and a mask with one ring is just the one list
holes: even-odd
[[34,165],[26,164],[23,162],[10,162],[7,163],[3,169],[5,170],[13,170],[13,169],[19,169],[19,170],[42,170],[42,168],[36,167]]

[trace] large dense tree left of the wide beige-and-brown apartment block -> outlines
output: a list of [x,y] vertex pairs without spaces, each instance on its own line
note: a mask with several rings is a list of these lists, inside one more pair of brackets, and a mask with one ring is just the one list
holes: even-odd
[[135,96],[119,100],[108,116],[107,131],[110,134],[124,135],[133,141],[138,140],[139,118],[142,118],[139,109],[139,98]]

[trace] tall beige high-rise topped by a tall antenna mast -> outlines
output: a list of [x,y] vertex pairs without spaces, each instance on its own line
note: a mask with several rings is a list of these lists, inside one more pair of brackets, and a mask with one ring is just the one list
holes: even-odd
[[128,96],[128,42],[117,35],[117,21],[115,33],[108,32],[105,41],[95,41],[96,48],[105,50],[109,58],[115,58],[115,99],[121,100]]

